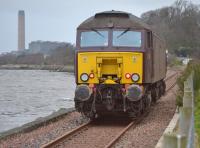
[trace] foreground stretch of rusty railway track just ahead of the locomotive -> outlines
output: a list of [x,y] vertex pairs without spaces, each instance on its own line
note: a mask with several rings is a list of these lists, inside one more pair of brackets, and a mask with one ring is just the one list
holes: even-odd
[[[80,140],[86,140],[84,143],[84,145],[88,146],[90,142],[92,142],[94,139],[90,139],[90,138],[84,138],[85,136],[85,133],[88,132],[89,133],[89,130],[90,132],[93,131],[95,132],[96,131],[96,134],[95,135],[98,135],[98,133],[102,130],[101,129],[106,129],[105,131],[103,131],[102,133],[99,133],[99,135],[104,135],[103,139],[106,141],[106,139],[110,138],[109,140],[107,140],[108,142],[107,143],[104,143],[103,140],[101,140],[101,145],[98,144],[98,147],[104,147],[104,148],[110,148],[112,147],[115,142],[130,128],[134,128],[137,126],[137,124],[139,124],[142,119],[144,119],[144,117],[147,116],[147,113],[144,114],[143,116],[141,116],[140,118],[134,120],[134,121],[125,121],[125,123],[117,123],[116,124],[112,124],[110,125],[108,122],[106,122],[105,125],[103,126],[99,126],[99,124],[95,124],[93,123],[92,121],[91,122],[88,122],[88,123],[85,123],[79,127],[77,127],[76,129],[66,133],[65,135],[61,136],[61,137],[58,137],[57,139],[51,141],[50,143],[47,143],[45,145],[42,146],[42,148],[52,148],[52,147],[71,147],[69,145],[67,145],[67,143],[69,143],[72,139],[76,138],[78,139],[79,141]],[[112,120],[113,121],[113,120]],[[99,121],[98,121],[99,122]],[[100,121],[100,123],[102,124],[103,121]],[[122,122],[122,121],[121,121]],[[124,122],[124,121],[123,121]],[[114,126],[114,128],[112,127]],[[112,129],[111,129],[112,128]],[[110,130],[110,131],[109,131]],[[117,131],[116,131],[117,130]],[[114,132],[115,131],[115,132]],[[111,134],[112,133],[112,134]],[[83,134],[83,136],[80,136],[81,134]],[[78,136],[77,136],[78,135]],[[96,137],[96,138],[99,138],[99,137]],[[102,138],[102,137],[101,137]],[[88,141],[90,140],[90,141]],[[73,147],[78,147],[76,145],[79,145],[81,144],[80,143],[74,143],[74,142],[71,142],[73,143]],[[93,145],[93,144],[92,144]],[[89,147],[92,147],[89,146]],[[85,146],[80,146],[80,147],[85,147]]]

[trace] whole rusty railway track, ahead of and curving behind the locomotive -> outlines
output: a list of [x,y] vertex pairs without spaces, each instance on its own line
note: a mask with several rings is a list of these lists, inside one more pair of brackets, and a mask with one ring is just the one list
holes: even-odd
[[[178,73],[168,76],[165,81],[167,83],[166,92],[171,90],[176,85],[176,78]],[[140,118],[133,121],[126,121],[120,125],[115,125],[115,121],[111,121],[112,124],[95,122],[87,122],[74,130],[67,132],[66,134],[58,137],[57,139],[42,145],[42,148],[50,147],[112,147],[120,137],[130,128],[135,128],[146,116],[148,112],[143,114]],[[99,122],[99,121],[98,121]],[[122,121],[120,121],[122,122]],[[124,122],[124,121],[123,121]],[[101,133],[102,132],[102,133]],[[88,135],[90,133],[90,135]],[[96,135],[97,137],[94,137]],[[101,136],[101,138],[99,137]],[[93,139],[92,139],[93,138]],[[82,140],[82,142],[81,142]],[[95,146],[94,146],[95,140]],[[93,142],[90,144],[90,142]]]

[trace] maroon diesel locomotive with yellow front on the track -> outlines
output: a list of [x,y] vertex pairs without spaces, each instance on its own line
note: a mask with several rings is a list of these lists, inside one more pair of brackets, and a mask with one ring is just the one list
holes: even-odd
[[138,17],[97,13],[78,26],[76,39],[74,101],[85,116],[137,117],[165,93],[165,44]]

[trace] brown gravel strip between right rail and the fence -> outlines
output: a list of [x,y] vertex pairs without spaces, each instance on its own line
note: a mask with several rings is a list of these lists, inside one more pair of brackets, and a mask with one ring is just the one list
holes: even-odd
[[113,146],[115,148],[154,148],[176,110],[175,86],[152,106],[151,111],[136,128],[130,128]]

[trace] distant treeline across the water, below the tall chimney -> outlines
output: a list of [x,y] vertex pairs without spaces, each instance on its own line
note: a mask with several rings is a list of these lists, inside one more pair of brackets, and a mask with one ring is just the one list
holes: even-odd
[[67,44],[52,50],[49,54],[29,53],[28,50],[22,53],[8,53],[0,55],[0,65],[6,64],[28,64],[28,65],[73,65],[75,47]]

